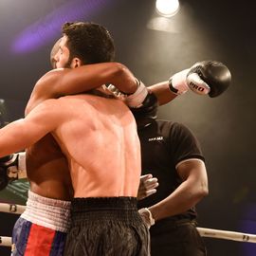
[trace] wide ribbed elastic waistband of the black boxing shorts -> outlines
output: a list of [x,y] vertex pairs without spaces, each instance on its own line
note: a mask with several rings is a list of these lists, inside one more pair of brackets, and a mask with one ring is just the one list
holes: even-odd
[[74,198],[71,203],[71,218],[73,223],[99,220],[128,223],[141,221],[137,212],[137,198],[124,196]]

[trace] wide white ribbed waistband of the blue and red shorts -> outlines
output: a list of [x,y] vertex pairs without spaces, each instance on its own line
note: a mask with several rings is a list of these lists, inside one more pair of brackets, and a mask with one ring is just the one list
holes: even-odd
[[31,223],[67,232],[70,227],[71,202],[47,198],[28,191],[27,207],[21,217]]

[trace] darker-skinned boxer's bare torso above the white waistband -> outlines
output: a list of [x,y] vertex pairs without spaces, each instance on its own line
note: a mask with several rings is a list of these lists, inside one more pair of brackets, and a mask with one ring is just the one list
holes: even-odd
[[62,200],[73,197],[67,161],[51,135],[27,149],[27,178],[31,192]]

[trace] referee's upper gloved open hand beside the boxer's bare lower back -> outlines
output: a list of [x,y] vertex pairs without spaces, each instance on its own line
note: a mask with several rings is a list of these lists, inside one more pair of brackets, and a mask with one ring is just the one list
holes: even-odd
[[156,192],[155,188],[158,187],[157,178],[152,174],[145,174],[140,176],[140,182],[137,192],[137,200],[141,200]]

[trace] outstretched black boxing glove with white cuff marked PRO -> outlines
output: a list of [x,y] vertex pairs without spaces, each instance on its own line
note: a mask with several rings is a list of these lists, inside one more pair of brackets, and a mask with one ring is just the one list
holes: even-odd
[[174,74],[169,80],[169,87],[177,95],[191,89],[196,94],[208,94],[214,98],[226,91],[230,82],[231,74],[225,64],[203,61]]

